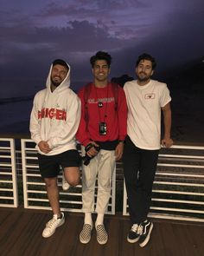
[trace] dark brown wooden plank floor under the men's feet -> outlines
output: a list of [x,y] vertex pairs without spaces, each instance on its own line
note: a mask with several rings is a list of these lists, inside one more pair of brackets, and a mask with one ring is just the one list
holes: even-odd
[[100,246],[95,230],[87,245],[80,244],[79,233],[83,225],[81,213],[65,213],[66,222],[48,239],[41,237],[50,212],[26,210],[22,207],[0,208],[1,256],[203,256],[204,224],[189,224],[169,220],[153,220],[150,242],[140,248],[130,244],[126,235],[130,229],[127,217],[119,214],[105,217],[109,240]]

